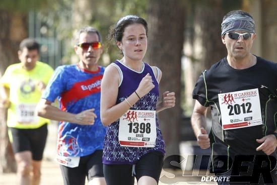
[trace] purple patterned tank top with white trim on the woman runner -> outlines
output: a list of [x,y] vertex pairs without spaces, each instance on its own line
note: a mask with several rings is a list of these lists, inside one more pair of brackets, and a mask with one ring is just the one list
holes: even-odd
[[[118,60],[113,63],[119,70],[121,70],[123,79],[120,86],[118,87],[118,96],[116,104],[124,101],[125,98],[129,97],[138,87],[143,77],[149,73],[154,80],[155,87],[150,90],[150,92],[145,95],[141,100],[138,100],[131,110],[156,110],[156,105],[159,100],[159,84],[156,80],[152,68],[144,63],[142,72],[136,72]],[[153,148],[147,147],[126,147],[120,146],[118,141],[118,131],[119,131],[119,119],[113,122],[107,127],[107,132],[104,139],[103,148],[103,163],[104,164],[135,164],[143,155],[152,151],[161,151],[165,153],[165,142],[159,128],[159,121],[156,117],[157,126],[157,139],[156,146]]]

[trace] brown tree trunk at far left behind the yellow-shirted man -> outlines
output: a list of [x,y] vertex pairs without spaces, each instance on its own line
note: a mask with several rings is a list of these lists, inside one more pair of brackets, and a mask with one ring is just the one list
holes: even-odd
[[[18,61],[20,42],[27,37],[26,15],[0,10],[0,76]],[[16,162],[7,132],[7,110],[0,109],[0,172],[15,172]]]

